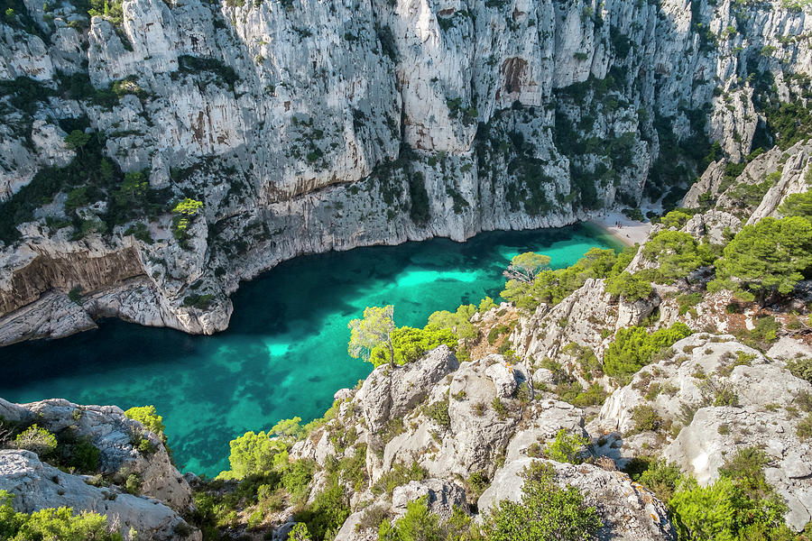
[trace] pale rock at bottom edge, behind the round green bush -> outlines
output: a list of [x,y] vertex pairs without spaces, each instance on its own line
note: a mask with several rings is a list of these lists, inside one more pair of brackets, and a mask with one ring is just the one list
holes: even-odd
[[[499,501],[521,501],[524,484],[522,472],[533,459],[523,458],[505,464],[496,472],[494,482],[484,491],[477,502],[481,513],[493,511]],[[598,539],[677,538],[669,520],[668,509],[623,472],[608,472],[590,464],[569,464],[543,461],[554,472],[553,479],[559,485],[576,487],[584,496],[586,505],[594,506],[604,526],[598,531]]]

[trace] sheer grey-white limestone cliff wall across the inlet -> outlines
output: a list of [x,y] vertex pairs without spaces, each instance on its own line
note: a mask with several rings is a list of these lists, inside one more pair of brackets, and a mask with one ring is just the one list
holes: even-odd
[[[760,81],[791,100],[812,70],[812,17],[778,1],[118,6],[27,1],[0,23],[0,197],[83,160],[63,141],[78,127],[163,206],[118,224],[115,186],[67,211],[69,189],[39,194],[0,252],[0,344],[101,315],[212,333],[239,280],[300,253],[659,198],[694,178],[706,135],[751,150]],[[185,243],[182,197],[204,203]],[[77,261],[87,274],[62,272]],[[74,288],[75,325],[43,323],[64,297],[42,292]]]

